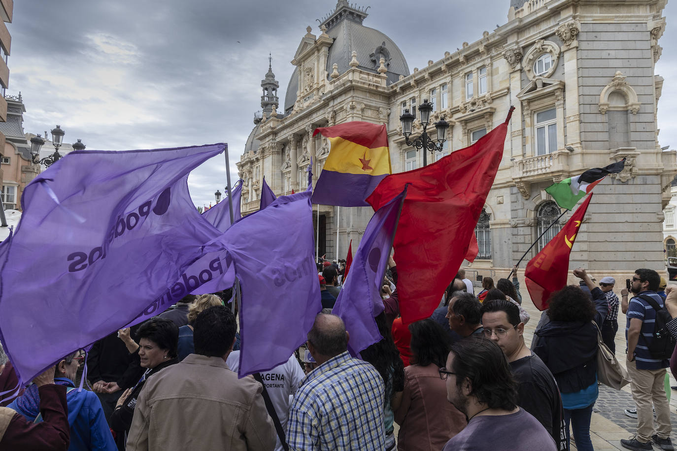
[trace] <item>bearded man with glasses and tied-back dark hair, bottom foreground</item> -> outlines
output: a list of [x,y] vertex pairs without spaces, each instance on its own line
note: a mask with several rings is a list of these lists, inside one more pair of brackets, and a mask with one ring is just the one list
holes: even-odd
[[439,375],[447,381],[447,400],[468,418],[443,451],[557,450],[541,423],[517,405],[517,382],[492,340],[475,336],[456,341]]

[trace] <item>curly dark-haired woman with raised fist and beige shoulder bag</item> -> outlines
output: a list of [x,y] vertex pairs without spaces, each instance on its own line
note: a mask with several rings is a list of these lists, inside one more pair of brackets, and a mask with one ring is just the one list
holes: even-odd
[[[597,400],[597,328],[608,312],[607,298],[584,269],[573,275],[582,279],[594,304],[580,287],[569,285],[552,293],[548,316],[550,323],[536,331],[539,340],[533,348],[554,375],[562,396],[564,417],[573,423],[573,438],[580,451],[592,450],[590,417]],[[567,445],[569,437],[567,436]]]

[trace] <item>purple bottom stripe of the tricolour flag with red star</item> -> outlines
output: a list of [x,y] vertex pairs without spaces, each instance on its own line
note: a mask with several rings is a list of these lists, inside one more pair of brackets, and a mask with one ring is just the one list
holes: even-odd
[[387,175],[346,174],[324,169],[315,184],[313,204],[342,207],[369,206],[364,199]]

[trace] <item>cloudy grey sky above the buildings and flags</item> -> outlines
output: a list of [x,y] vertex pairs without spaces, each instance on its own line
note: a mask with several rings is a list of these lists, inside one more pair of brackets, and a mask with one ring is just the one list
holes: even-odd
[[[351,0],[352,2],[353,0]],[[357,0],[369,5],[364,24],[389,35],[410,70],[472,43],[507,21],[509,0]],[[677,1],[656,72],[665,78],[659,104],[661,146],[677,148]],[[9,89],[21,91],[26,132],[56,124],[64,142],[87,149],[148,149],[227,142],[233,176],[261,109],[268,53],[284,99],[290,61],[308,25],[336,0],[117,0],[14,3]],[[281,108],[280,108],[281,109]],[[225,187],[222,156],[189,179],[196,205]]]

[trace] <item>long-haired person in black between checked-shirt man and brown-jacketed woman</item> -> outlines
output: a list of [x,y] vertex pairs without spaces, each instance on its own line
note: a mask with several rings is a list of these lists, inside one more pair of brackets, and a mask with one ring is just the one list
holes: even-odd
[[372,344],[362,352],[360,356],[365,362],[374,366],[378,374],[385,381],[385,400],[383,400],[383,425],[385,427],[386,450],[395,448],[395,429],[393,427],[393,410],[399,405],[399,396],[404,389],[404,365],[399,358],[399,351],[395,347],[393,335],[387,325],[385,312],[381,312],[376,318],[376,325],[380,333],[381,341]]

